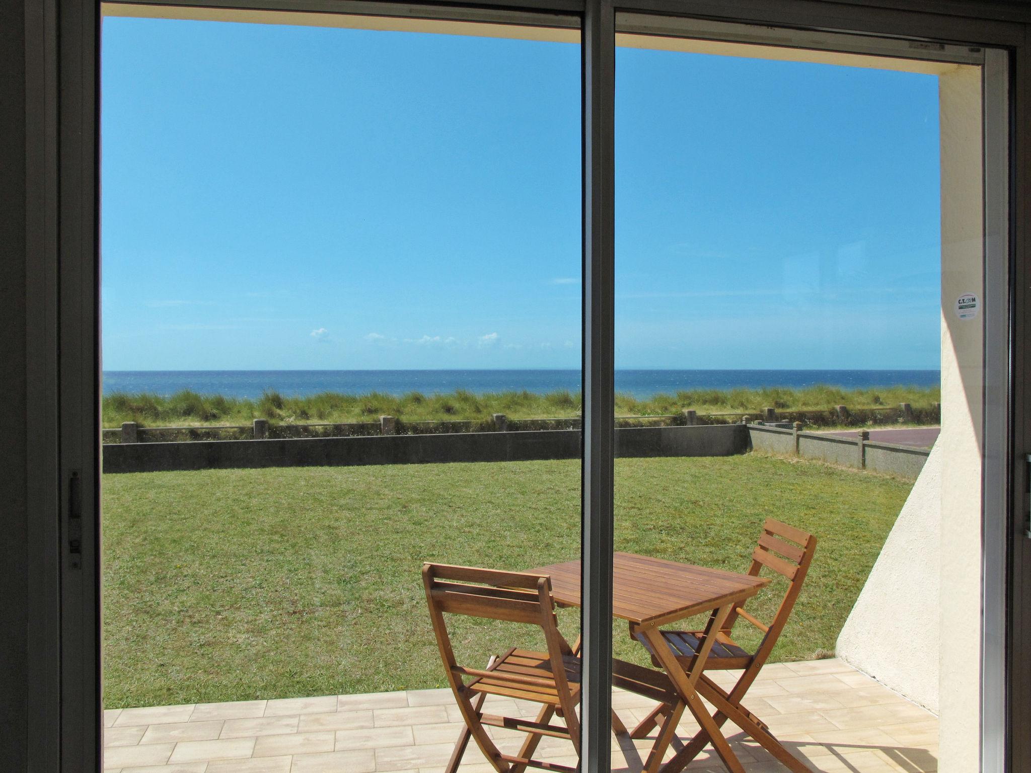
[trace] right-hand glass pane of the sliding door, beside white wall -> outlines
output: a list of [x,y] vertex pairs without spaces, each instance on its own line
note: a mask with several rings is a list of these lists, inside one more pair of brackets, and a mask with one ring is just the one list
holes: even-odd
[[614,652],[775,736],[663,748],[627,700],[627,764],[931,769],[978,686],[938,642],[946,589],[979,625],[980,69],[618,44],[616,593],[653,616]]

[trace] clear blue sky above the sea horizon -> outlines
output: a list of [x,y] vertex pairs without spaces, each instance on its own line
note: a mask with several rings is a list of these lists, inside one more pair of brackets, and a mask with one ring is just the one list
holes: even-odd
[[[579,365],[579,49],[107,19],[104,367]],[[937,83],[621,49],[618,367],[937,368]]]

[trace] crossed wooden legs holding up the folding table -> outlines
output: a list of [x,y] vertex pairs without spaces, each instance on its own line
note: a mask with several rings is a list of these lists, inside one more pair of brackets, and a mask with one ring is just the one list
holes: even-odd
[[[744,768],[741,766],[740,761],[737,759],[734,750],[730,748],[730,744],[724,738],[723,733],[720,732],[719,726],[705,708],[705,704],[702,703],[702,699],[699,698],[695,690],[695,684],[705,669],[705,661],[708,659],[709,650],[712,648],[716,634],[727,618],[732,607],[733,604],[727,604],[709,617],[708,625],[705,627],[705,637],[702,645],[699,647],[698,653],[692,660],[691,666],[687,671],[680,666],[676,660],[676,656],[673,654],[666,640],[662,638],[662,632],[658,628],[642,628],[640,632],[652,645],[652,651],[655,652],[659,663],[669,675],[684,705],[687,706],[698,721],[698,725],[701,726],[702,731],[708,736],[709,743],[712,744],[712,748],[724,766],[730,773],[744,773]],[[683,707],[680,710],[683,711]],[[666,739],[666,733],[660,733],[659,739],[653,748],[653,753],[658,754],[660,760],[665,754],[666,747],[668,747],[669,740],[671,740],[671,738]],[[674,773],[683,767],[671,765],[675,759],[662,768],[663,773]]]

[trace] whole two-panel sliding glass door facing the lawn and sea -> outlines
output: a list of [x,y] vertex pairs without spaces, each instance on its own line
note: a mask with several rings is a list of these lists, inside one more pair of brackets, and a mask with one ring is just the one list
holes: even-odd
[[59,4],[68,770],[1002,759],[1001,49]]

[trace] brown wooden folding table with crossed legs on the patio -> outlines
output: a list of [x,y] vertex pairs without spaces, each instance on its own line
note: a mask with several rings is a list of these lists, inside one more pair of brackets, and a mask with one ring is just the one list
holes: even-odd
[[[552,592],[557,603],[580,605],[579,561],[567,561],[529,571],[551,575]],[[735,606],[755,596],[768,583],[769,579],[765,577],[678,564],[647,556],[618,552],[613,557],[612,616],[627,620],[632,635],[639,635],[647,640],[680,697],[679,705],[673,707],[659,728],[658,738],[644,764],[647,773],[660,770],[662,758],[675,736],[685,707],[708,734],[709,742],[727,769],[732,773],[744,773],[720,727],[698,697],[695,684],[705,668],[709,649],[716,640],[714,636],[708,634],[719,631]],[[704,642],[691,665],[685,668],[662,638],[659,627],[705,612],[709,612],[709,619],[705,627]],[[675,764],[673,767],[667,765],[662,768],[662,772],[674,773],[679,769]]]

